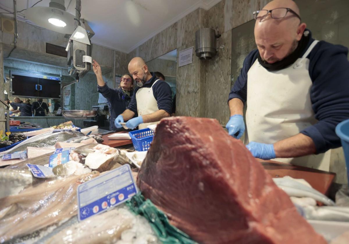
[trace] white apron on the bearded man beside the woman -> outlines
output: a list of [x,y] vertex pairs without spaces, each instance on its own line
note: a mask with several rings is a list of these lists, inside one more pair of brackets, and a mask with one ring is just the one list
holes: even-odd
[[[153,83],[153,85],[155,85],[155,83],[157,81],[159,81],[159,79],[157,79]],[[153,94],[153,85],[151,85],[151,87],[141,87],[136,92],[138,116],[151,114],[151,113],[154,113],[154,112],[159,110],[159,108],[157,107],[157,101],[156,101],[154,94]],[[151,122],[151,123],[143,123],[143,124],[138,125],[138,128],[144,129],[144,128],[147,128],[148,125],[157,124],[158,122],[159,121]]]

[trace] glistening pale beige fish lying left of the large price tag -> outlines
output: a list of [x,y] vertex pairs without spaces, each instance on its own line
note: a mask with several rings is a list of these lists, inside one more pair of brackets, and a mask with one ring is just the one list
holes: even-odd
[[81,176],[56,178],[29,187],[18,195],[1,198],[0,211],[13,204],[21,206],[23,211],[0,219],[0,243],[75,216],[77,186],[98,175],[97,171],[92,171]]

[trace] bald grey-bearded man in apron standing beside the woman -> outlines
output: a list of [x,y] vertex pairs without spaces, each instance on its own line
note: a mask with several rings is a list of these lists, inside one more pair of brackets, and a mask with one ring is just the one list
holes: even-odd
[[[128,63],[128,71],[137,82],[131,102],[126,110],[114,122],[115,127],[121,128],[124,121],[126,126],[134,129],[144,129],[147,125],[156,124],[164,117],[169,117],[172,111],[172,92],[169,84],[161,82],[155,74],[151,74],[142,58],[133,58]],[[138,114],[137,117],[134,117]],[[134,118],[133,118],[134,117]]]

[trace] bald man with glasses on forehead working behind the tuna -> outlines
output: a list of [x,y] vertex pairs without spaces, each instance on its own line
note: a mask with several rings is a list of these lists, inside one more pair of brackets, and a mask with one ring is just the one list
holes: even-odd
[[[257,50],[246,57],[229,94],[229,134],[254,157],[329,168],[340,147],[335,127],[349,119],[348,48],[314,40],[294,1],[255,11]],[[326,152],[326,153],[325,153]]]

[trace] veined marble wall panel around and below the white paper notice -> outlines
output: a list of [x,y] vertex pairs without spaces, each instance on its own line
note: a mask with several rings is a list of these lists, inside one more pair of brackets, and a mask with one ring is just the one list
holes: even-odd
[[[195,45],[195,41],[182,47],[178,52]],[[178,55],[177,55],[178,63]],[[199,71],[200,62],[193,50],[193,63],[177,68],[176,115],[199,117]]]

